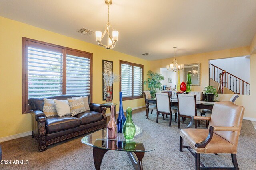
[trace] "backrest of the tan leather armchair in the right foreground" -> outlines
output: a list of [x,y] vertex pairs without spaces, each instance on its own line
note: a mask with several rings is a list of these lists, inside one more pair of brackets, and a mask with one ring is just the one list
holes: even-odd
[[[241,129],[244,107],[230,101],[214,102],[210,126],[238,127]],[[240,131],[214,131],[233,145],[237,145]]]

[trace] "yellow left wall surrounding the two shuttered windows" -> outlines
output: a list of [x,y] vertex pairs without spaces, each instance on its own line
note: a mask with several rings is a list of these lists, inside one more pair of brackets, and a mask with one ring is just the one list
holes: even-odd
[[[102,103],[102,60],[113,61],[113,72],[119,74],[119,60],[144,65],[149,61],[113,50],[106,50],[58,33],[0,17],[0,138],[31,130],[30,114],[22,115],[22,37],[93,53],[93,102]],[[86,39],[86,36],[85,36]],[[118,46],[118,44],[117,44]],[[119,82],[114,84],[114,102],[119,100]],[[144,106],[144,99],[123,102],[124,109]],[[117,106],[118,111],[119,106]]]

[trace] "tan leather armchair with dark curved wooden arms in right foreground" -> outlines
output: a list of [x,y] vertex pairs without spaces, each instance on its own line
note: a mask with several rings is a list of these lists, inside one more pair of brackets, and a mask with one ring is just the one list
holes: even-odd
[[[193,116],[186,129],[180,130],[180,152],[187,148],[195,157],[196,170],[203,169],[234,169],[239,170],[236,160],[237,144],[242,126],[244,107],[233,102],[215,102],[212,117]],[[208,120],[208,129],[191,129],[193,120]],[[183,145],[183,140],[188,146]],[[194,152],[192,151],[195,151]],[[233,166],[231,168],[205,167],[200,161],[200,154],[231,154]],[[202,168],[200,167],[202,165]]]

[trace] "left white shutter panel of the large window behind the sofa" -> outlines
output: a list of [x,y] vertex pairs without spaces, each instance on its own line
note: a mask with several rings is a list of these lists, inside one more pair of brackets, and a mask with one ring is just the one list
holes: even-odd
[[62,94],[62,53],[28,47],[28,98]]

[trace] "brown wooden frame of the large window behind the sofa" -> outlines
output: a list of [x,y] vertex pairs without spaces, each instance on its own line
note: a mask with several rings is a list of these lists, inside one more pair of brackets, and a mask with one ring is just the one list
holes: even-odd
[[90,96],[92,102],[92,53],[76,50],[68,47],[63,47],[60,45],[55,45],[51,43],[46,43],[43,41],[38,41],[26,37],[22,37],[22,114],[30,113],[30,106],[28,105],[28,48],[26,47],[28,42],[38,43],[41,45],[51,46],[53,48],[61,48],[63,54],[63,80],[62,80],[62,95],[66,94],[66,52],[68,50],[68,54],[82,54],[80,57],[85,57],[90,59]]

